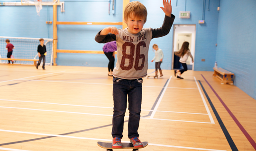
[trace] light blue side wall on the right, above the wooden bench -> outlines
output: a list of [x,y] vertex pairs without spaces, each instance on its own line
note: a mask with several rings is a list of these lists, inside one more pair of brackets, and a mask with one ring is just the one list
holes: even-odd
[[234,84],[256,99],[256,0],[221,0],[218,67],[235,74]]

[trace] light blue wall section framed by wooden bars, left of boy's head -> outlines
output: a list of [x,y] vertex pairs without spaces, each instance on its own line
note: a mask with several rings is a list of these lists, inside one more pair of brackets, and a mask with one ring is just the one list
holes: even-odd
[[[58,12],[58,21],[122,22],[122,0],[116,0],[116,13],[112,14],[112,1],[80,0],[65,1],[65,12]],[[104,44],[95,42],[95,35],[110,25],[58,25],[58,49],[102,50]],[[122,28],[121,25],[115,25]],[[104,54],[58,53],[56,63],[61,66],[107,67],[109,60]],[[117,60],[116,60],[117,61]]]

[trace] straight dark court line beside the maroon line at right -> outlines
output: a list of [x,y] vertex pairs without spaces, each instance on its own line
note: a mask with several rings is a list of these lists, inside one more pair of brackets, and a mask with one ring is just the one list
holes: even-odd
[[237,148],[236,144],[232,140],[232,138],[231,138],[231,136],[230,136],[226,126],[224,125],[224,123],[222,122],[221,118],[219,117],[219,114],[218,114],[217,110],[215,109],[213,103],[211,102],[210,97],[208,96],[208,94],[205,91],[204,87],[202,86],[201,81],[200,80],[198,80],[198,81],[199,81],[199,83],[200,83],[200,85],[202,87],[202,90],[203,90],[207,100],[209,101],[210,107],[213,110],[213,112],[215,114],[215,117],[217,118],[217,120],[219,122],[219,126],[221,127],[221,129],[222,129],[222,131],[223,131],[223,133],[224,133],[224,135],[225,135],[225,137],[226,137],[226,139],[227,139],[227,141],[229,143],[229,146],[230,146],[231,150],[232,151],[238,151],[238,148]]

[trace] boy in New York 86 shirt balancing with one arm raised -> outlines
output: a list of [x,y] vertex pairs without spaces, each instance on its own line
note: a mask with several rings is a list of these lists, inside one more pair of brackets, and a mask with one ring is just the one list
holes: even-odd
[[147,75],[148,49],[151,39],[169,33],[175,16],[172,15],[171,0],[163,0],[165,12],[161,28],[143,28],[146,23],[146,7],[139,1],[128,3],[124,10],[126,29],[107,27],[95,37],[95,41],[106,43],[117,41],[117,64],[113,71],[114,113],[112,120],[112,148],[122,148],[124,116],[128,95],[128,138],[134,147],[143,147],[138,139],[138,127],[142,100],[142,78]]

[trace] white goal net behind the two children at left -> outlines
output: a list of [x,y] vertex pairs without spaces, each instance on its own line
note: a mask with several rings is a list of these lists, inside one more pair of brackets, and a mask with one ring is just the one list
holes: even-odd
[[[0,58],[7,58],[7,50],[5,42],[6,39],[10,40],[15,49],[12,56],[16,59],[39,59],[37,47],[40,44],[40,38],[22,38],[22,37],[1,37],[0,36]],[[46,65],[53,63],[53,39],[44,38],[46,45]],[[43,62],[43,61],[42,61]],[[8,63],[8,60],[0,60],[0,63]],[[15,64],[31,64],[33,61],[16,61]]]

